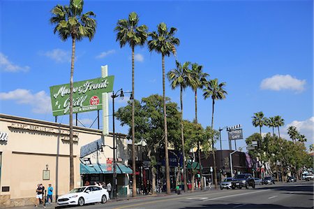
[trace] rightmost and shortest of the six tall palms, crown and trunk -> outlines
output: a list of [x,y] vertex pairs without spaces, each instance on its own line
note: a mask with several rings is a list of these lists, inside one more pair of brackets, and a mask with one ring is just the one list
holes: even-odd
[[[213,110],[211,112],[211,129],[214,130],[214,106],[215,106],[215,100],[220,100],[220,99],[225,99],[225,94],[227,92],[225,89],[225,82],[218,83],[218,79],[215,78],[214,80],[209,80],[207,82],[206,88],[203,89],[203,96],[204,99],[207,99],[211,97],[212,99],[212,104],[213,104]],[[213,159],[214,159],[214,179],[215,179],[215,188],[217,189],[218,187],[218,182],[217,182],[217,169],[216,169],[216,156],[215,156],[215,150],[214,150],[214,136],[211,138],[211,146],[212,146],[212,152],[213,152]]]

